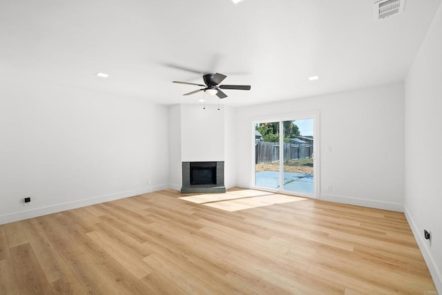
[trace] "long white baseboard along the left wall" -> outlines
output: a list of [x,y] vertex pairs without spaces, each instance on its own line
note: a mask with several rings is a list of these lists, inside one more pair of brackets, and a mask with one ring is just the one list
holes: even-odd
[[143,193],[152,193],[153,191],[161,191],[163,189],[168,189],[167,184],[157,185],[155,187],[145,187],[142,189],[134,189],[131,191],[123,191],[120,193],[112,193],[110,195],[98,196],[93,198],[87,198],[83,200],[75,200],[72,202],[65,202],[61,204],[53,204],[46,207],[40,207],[35,209],[30,209],[26,211],[19,211],[14,213],[8,213],[0,216],[0,225],[5,223],[15,222],[19,220],[25,220],[28,218],[34,218],[37,216],[44,216],[51,213],[57,213],[61,211],[66,211],[70,209],[76,209],[79,207],[86,207],[93,204],[99,204],[102,202],[108,202],[123,198],[128,198],[132,196],[142,195]]

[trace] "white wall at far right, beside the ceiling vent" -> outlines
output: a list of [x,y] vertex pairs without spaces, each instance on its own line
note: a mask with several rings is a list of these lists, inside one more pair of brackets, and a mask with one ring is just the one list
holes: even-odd
[[[442,6],[405,79],[405,215],[442,294]],[[432,245],[423,230],[432,232]]]

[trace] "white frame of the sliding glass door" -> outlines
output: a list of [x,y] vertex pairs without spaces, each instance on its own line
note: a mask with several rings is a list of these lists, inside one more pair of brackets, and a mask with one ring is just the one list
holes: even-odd
[[[265,187],[256,187],[255,184],[255,159],[256,159],[256,149],[255,149],[255,126],[259,123],[265,123],[265,122],[279,122],[279,129],[280,134],[282,131],[282,122],[284,121],[291,121],[291,120],[307,120],[307,119],[313,119],[314,120],[314,145],[313,145],[313,153],[314,153],[314,193],[313,194],[307,194],[307,193],[293,193],[291,191],[284,191],[284,186],[282,185],[283,180],[283,164],[284,161],[282,160],[283,155],[283,136],[280,136],[279,138],[279,164],[280,164],[280,189],[268,189]],[[288,195],[294,195],[294,196],[302,196],[307,198],[320,198],[320,113],[319,111],[309,111],[309,112],[297,112],[297,113],[288,113],[288,114],[282,114],[282,115],[269,115],[269,116],[262,116],[262,117],[254,117],[252,118],[251,122],[251,134],[253,134],[252,142],[250,149],[252,151],[251,157],[252,157],[252,165],[251,165],[251,187],[253,189],[260,189],[265,191],[274,191],[279,193],[285,193]]]

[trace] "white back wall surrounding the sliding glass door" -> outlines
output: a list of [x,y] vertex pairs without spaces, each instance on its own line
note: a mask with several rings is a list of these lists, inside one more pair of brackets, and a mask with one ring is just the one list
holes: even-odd
[[239,108],[238,186],[252,182],[253,118],[308,111],[320,112],[320,198],[402,211],[403,83]]

